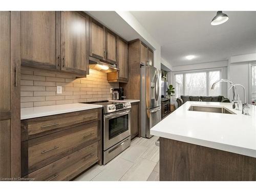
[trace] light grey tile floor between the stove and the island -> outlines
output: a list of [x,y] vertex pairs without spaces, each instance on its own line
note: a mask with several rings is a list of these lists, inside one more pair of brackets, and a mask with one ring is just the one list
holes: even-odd
[[134,138],[131,146],[106,165],[94,165],[75,181],[159,181],[158,137]]

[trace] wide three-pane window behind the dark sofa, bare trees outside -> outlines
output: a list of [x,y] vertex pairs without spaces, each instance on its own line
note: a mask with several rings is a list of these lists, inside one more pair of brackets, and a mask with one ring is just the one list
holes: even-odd
[[[218,96],[221,95],[221,84],[216,84],[214,90],[212,83],[220,79],[221,71],[206,71],[184,73],[175,75],[175,97],[181,95],[191,96]],[[256,88],[256,87],[255,87]],[[255,89],[256,90],[256,89]]]

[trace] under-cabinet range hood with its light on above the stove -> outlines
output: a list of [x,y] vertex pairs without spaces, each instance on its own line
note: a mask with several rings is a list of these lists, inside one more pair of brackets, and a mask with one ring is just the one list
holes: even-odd
[[100,59],[89,57],[89,67],[90,69],[101,71],[104,73],[116,72],[119,71],[117,65],[102,62]]

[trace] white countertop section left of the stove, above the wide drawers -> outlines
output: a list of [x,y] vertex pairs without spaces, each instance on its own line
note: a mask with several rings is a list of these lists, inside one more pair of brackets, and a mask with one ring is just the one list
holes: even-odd
[[44,117],[49,115],[57,115],[62,113],[70,113],[76,111],[90,110],[102,108],[99,104],[71,103],[50,106],[36,106],[34,108],[20,109],[20,119],[31,119],[36,117]]

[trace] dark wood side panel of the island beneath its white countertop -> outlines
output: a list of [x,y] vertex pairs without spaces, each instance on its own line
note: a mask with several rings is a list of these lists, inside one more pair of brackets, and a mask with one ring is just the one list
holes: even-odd
[[160,137],[160,181],[255,181],[256,158]]

